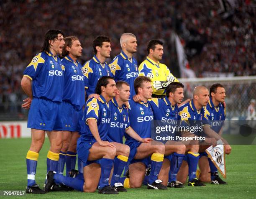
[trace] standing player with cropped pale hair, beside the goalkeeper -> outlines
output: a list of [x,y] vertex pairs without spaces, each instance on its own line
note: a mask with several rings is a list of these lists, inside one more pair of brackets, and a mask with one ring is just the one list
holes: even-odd
[[132,33],[123,33],[120,38],[122,51],[110,62],[111,72],[115,81],[125,81],[130,85],[131,97],[135,95],[134,79],[138,77],[138,63],[133,57],[137,51],[136,36]]

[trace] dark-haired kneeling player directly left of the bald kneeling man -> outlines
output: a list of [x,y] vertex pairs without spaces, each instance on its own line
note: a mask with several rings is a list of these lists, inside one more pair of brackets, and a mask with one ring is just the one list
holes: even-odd
[[[181,104],[184,98],[184,85],[179,82],[172,82],[166,88],[166,97],[163,99],[152,98],[149,104],[153,110],[154,120],[160,122],[160,126],[178,125],[178,104]],[[161,135],[161,134],[160,134]],[[170,135],[170,132],[168,132]],[[171,134],[174,137],[175,132]],[[166,136],[166,135],[162,135]],[[184,158],[186,146],[182,142],[169,140],[165,143],[164,162],[159,173],[159,179],[168,187],[182,188],[183,184],[177,181],[176,176]],[[169,179],[168,179],[169,176]],[[145,176],[146,177],[146,176]]]

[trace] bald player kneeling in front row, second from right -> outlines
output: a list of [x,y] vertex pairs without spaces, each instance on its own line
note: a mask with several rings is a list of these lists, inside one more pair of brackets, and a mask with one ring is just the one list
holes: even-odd
[[182,129],[182,138],[189,138],[184,142],[186,155],[182,166],[177,174],[177,180],[183,184],[189,176],[188,186],[205,186],[196,178],[197,163],[199,160],[199,142],[202,133],[202,120],[204,119],[204,108],[209,100],[209,91],[206,87],[195,87],[193,99],[179,107],[179,120]]

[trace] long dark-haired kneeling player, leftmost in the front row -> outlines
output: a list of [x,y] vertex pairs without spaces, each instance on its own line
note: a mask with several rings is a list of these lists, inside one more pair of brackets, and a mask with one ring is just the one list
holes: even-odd
[[100,194],[118,194],[108,182],[117,150],[113,143],[106,141],[110,128],[109,101],[116,92],[114,79],[101,77],[95,92],[100,97],[87,101],[81,137],[77,140],[77,154],[84,163],[84,180],[50,171],[47,174],[46,191],[50,190],[52,184],[62,183],[84,192],[94,192],[99,185]]

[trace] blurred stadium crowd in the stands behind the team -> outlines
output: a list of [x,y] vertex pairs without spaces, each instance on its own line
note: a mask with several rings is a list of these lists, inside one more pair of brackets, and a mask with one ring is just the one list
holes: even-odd
[[[95,36],[105,34],[112,38],[113,58],[120,51],[120,35],[132,32],[138,40],[135,55],[138,64],[146,57],[147,41],[161,38],[165,42],[163,62],[172,71],[176,55],[171,35],[176,31],[187,44],[189,63],[197,77],[202,77],[204,71],[255,75],[255,5],[242,2],[238,1],[225,18],[225,11],[218,12],[218,0],[3,1],[0,3],[0,112],[20,112],[20,99],[24,98],[20,89],[23,70],[41,48],[41,38],[50,28],[78,36],[83,46],[82,64],[92,57],[91,43]],[[196,55],[188,48],[191,41],[202,44]]]

